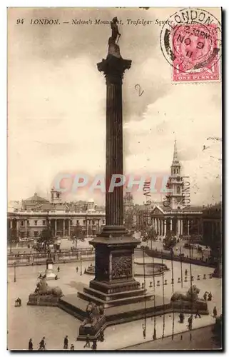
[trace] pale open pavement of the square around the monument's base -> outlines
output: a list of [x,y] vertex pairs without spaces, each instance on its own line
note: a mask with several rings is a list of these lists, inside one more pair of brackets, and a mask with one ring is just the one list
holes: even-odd
[[[142,261],[142,258],[136,258],[136,261]],[[146,258],[146,262],[152,262],[152,258]],[[154,259],[155,262],[161,262],[161,259]],[[82,263],[82,270],[90,265],[90,261]],[[92,261],[93,263],[93,261]],[[171,261],[164,261],[168,268],[171,269]],[[76,273],[76,265],[78,265],[78,273]],[[34,349],[37,348],[39,341],[43,336],[46,336],[46,346],[48,350],[63,349],[63,338],[68,335],[69,345],[74,343],[76,350],[83,350],[83,342],[76,341],[80,321],[73,316],[55,307],[46,306],[27,306],[29,293],[34,291],[37,282],[37,276],[40,272],[44,272],[46,266],[20,266],[16,268],[16,283],[14,283],[14,268],[8,268],[8,348],[10,350],[22,350],[28,348],[29,338],[34,340]],[[60,286],[65,295],[77,293],[83,290],[83,286],[88,286],[89,281],[93,276],[86,274],[80,275],[79,263],[66,263],[60,266],[61,271],[58,273],[58,281],[49,281],[50,286]],[[190,276],[190,265],[183,263],[183,272],[185,268]],[[57,266],[55,266],[57,269]],[[180,276],[180,262],[173,262],[174,272],[174,291],[187,291],[188,283],[184,283],[181,288],[178,283]],[[218,315],[222,311],[222,280],[218,278],[203,280],[203,274],[213,272],[213,268],[205,266],[192,266],[192,275],[195,276],[196,285],[200,288],[200,298],[205,291],[211,291],[213,301],[208,302],[210,315],[196,318],[193,321],[193,328],[208,326],[214,323],[214,318],[211,315],[213,307],[216,306]],[[201,276],[200,281],[196,281],[197,275]],[[171,270],[166,271],[165,279],[168,280],[168,285],[165,286],[165,296],[171,298],[173,293],[171,285]],[[143,278],[137,278],[141,283]],[[148,288],[152,277],[146,278],[146,288]],[[156,295],[162,295],[162,277],[156,277],[156,281],[160,281],[160,286],[156,286]],[[148,291],[153,293],[153,288],[148,288]],[[17,297],[21,298],[22,307],[15,308],[14,301]],[[185,322],[188,316],[185,316]],[[160,338],[163,333],[163,319],[165,321],[164,336],[169,336],[171,333],[179,333],[187,331],[186,323],[178,322],[178,313],[156,317],[157,338]],[[105,341],[98,343],[98,350],[116,350],[125,348],[136,343],[142,343],[143,320],[123,323],[121,325],[110,326],[105,331]],[[154,318],[146,319],[146,342],[152,340]]]

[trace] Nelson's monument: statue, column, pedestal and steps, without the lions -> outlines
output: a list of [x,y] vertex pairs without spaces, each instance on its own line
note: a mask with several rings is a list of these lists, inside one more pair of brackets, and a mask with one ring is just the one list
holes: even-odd
[[[121,57],[116,44],[121,36],[117,22],[117,18],[111,21],[108,55],[97,64],[106,77],[106,226],[90,242],[96,249],[95,278],[89,288],[78,293],[84,300],[102,303],[106,320],[116,320],[120,308],[114,307],[122,306],[123,312],[131,313],[131,303],[135,305],[132,315],[137,318],[136,309],[142,309],[144,299],[152,297],[134,278],[134,248],[139,241],[123,226],[123,185],[108,192],[112,176],[123,175],[122,81],[124,71],[131,68],[131,60]],[[110,307],[112,313],[108,312]]]

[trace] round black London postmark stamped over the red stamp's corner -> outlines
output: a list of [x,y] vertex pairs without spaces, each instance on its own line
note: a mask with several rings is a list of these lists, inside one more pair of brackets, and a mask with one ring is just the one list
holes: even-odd
[[173,71],[185,74],[217,70],[221,56],[221,24],[204,9],[175,12],[163,25],[161,51]]

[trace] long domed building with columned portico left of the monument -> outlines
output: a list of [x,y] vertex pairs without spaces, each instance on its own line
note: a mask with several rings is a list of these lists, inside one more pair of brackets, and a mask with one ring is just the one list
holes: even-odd
[[83,236],[95,236],[105,225],[104,209],[96,209],[93,199],[76,203],[61,202],[61,193],[51,191],[51,201],[34,196],[22,201],[22,208],[9,211],[8,228],[17,231],[19,238],[37,238],[51,225],[53,236],[69,237],[76,226],[81,226]]

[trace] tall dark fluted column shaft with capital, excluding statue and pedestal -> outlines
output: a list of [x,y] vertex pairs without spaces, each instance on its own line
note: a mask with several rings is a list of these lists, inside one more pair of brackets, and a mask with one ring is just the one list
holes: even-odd
[[[123,227],[123,184],[111,187],[111,192],[109,187],[114,175],[123,175],[122,79],[124,71],[131,68],[131,61],[108,56],[97,66],[106,76],[106,226],[111,231],[111,226],[119,226],[126,232]],[[121,178],[116,182],[121,182]]]

